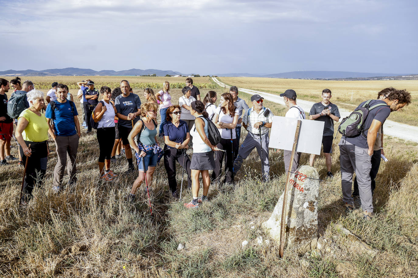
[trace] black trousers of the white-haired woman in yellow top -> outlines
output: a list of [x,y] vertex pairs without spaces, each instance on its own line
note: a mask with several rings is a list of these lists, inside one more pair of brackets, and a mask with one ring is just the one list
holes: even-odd
[[43,142],[30,142],[25,141],[26,145],[31,144],[32,154],[27,158],[23,154],[23,149],[19,146],[19,152],[22,156],[23,163],[26,163],[28,159],[28,167],[26,168],[26,176],[23,181],[23,193],[32,195],[32,190],[35,184],[42,185],[43,178],[46,173],[46,163],[48,161],[48,145],[46,141]]

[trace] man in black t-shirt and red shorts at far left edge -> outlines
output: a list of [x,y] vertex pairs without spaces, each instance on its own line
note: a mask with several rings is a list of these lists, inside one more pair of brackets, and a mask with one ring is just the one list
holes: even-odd
[[[7,160],[18,160],[10,154],[10,139],[13,136],[13,119],[7,114],[8,98],[6,93],[9,89],[9,81],[0,78],[0,165],[7,164]],[[4,156],[5,152],[6,157]]]

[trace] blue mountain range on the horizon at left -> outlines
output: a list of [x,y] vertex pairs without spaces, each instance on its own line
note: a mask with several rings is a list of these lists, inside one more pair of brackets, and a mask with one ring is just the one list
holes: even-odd
[[5,70],[0,71],[0,76],[71,76],[71,75],[87,75],[87,76],[94,76],[94,75],[122,75],[122,76],[130,76],[130,75],[152,75],[155,74],[157,76],[166,76],[168,75],[181,75],[176,71],[172,70],[140,70],[140,69],[130,69],[130,70],[92,70],[89,68],[54,68],[48,70]]

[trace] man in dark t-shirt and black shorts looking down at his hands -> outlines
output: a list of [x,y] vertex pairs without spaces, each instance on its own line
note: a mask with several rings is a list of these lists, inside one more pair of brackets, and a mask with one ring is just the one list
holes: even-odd
[[[324,156],[326,164],[326,175],[328,178],[333,178],[331,173],[331,153],[332,153],[332,140],[334,140],[334,121],[338,122],[340,115],[338,107],[331,103],[331,90],[322,90],[322,101],[312,105],[309,112],[309,120],[320,120],[324,122],[324,134],[322,135],[322,145],[324,146]],[[309,165],[313,166],[315,161],[315,155],[311,155],[309,158]]]

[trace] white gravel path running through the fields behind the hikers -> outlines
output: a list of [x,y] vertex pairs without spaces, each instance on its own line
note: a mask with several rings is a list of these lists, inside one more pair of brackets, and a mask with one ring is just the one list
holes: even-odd
[[[226,87],[226,88],[230,87],[220,82],[216,77],[212,77],[212,79],[214,80],[215,83],[217,83],[221,87]],[[238,88],[238,90],[240,90],[240,92],[247,93],[250,95],[259,94],[265,100],[269,100],[275,103],[279,103],[281,105],[285,105],[285,103],[283,102],[283,98],[280,98],[279,95],[265,93],[262,91],[245,89],[245,88]],[[303,110],[305,110],[305,112],[308,112],[308,113],[311,110],[312,105],[314,105],[314,102],[307,101],[307,100],[297,99],[296,102],[298,103],[299,106],[303,108]],[[353,106],[353,110],[354,110],[354,106]],[[341,118],[340,118],[341,120],[342,118],[350,115],[350,113],[352,113],[353,111],[352,110],[349,111],[344,108],[339,108],[339,112],[341,115]],[[393,137],[397,137],[397,138],[401,138],[404,140],[409,140],[409,141],[418,143],[418,127],[416,126],[407,125],[404,123],[397,123],[391,120],[386,120],[383,129],[384,129],[385,135],[389,135],[389,136],[393,136]]]

